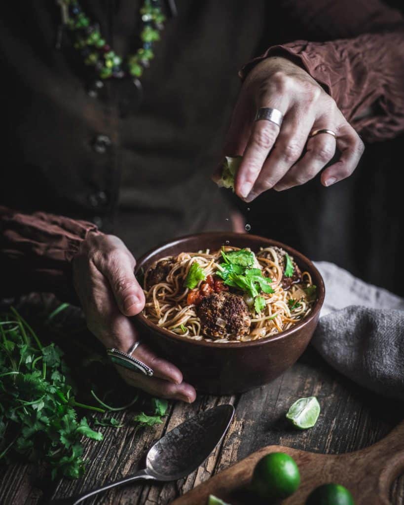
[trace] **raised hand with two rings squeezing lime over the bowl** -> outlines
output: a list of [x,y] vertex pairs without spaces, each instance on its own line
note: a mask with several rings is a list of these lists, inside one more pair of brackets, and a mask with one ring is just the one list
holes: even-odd
[[[255,121],[262,107],[281,111],[280,128],[271,121]],[[332,130],[337,139],[322,133],[308,140],[318,129]],[[321,174],[324,186],[355,170],[364,151],[359,135],[334,99],[304,69],[285,58],[271,57],[251,70],[242,85],[223,150],[226,156],[243,156],[235,181],[238,196],[249,202],[267,189],[282,191],[304,184],[331,161],[336,146],[340,159]]]

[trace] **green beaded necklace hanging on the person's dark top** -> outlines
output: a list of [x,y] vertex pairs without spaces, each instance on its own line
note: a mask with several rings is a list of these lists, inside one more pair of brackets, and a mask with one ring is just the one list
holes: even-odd
[[[73,39],[73,46],[80,52],[84,64],[93,67],[95,75],[100,79],[132,77],[135,85],[140,86],[138,78],[143,69],[149,66],[154,58],[153,43],[160,40],[160,33],[166,20],[162,13],[160,0],[144,0],[140,9],[142,29],[140,39],[142,47],[134,55],[125,60],[118,56],[107,44],[97,23],[93,23],[83,12],[78,0],[56,0],[61,9],[62,28],[58,32],[57,47],[61,47],[63,29],[67,29]],[[96,82],[95,87],[103,83]],[[96,96],[96,94],[94,94]]]

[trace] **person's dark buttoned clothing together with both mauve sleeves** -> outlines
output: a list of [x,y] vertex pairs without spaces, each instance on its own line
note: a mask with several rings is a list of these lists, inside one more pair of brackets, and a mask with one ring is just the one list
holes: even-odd
[[[82,4],[116,51],[130,52],[140,3]],[[68,39],[55,49],[54,3],[2,7],[6,294],[70,289],[69,262],[92,223],[121,236],[135,256],[168,238],[225,229],[229,206],[209,174],[237,72],[260,54],[306,68],[365,140],[404,129],[398,10],[378,0],[283,0],[276,8],[264,0],[178,0],[177,7],[141,79],[139,105],[128,82],[106,82],[97,98],[86,93],[86,72]],[[369,107],[371,116],[360,119]]]

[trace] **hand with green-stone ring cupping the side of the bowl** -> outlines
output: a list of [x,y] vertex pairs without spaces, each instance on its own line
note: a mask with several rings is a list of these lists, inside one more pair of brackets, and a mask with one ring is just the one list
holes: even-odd
[[[106,346],[126,352],[138,340],[130,316],[144,307],[144,293],[133,270],[135,259],[118,237],[90,232],[73,259],[73,280],[88,329]],[[124,380],[143,391],[192,402],[195,389],[177,367],[142,343],[133,356],[154,370],[153,377],[117,366]]]

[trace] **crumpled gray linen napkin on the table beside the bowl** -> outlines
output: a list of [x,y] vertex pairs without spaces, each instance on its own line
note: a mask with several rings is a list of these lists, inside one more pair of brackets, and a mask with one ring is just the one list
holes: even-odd
[[404,298],[316,262],[326,296],[312,344],[358,384],[404,399]]

